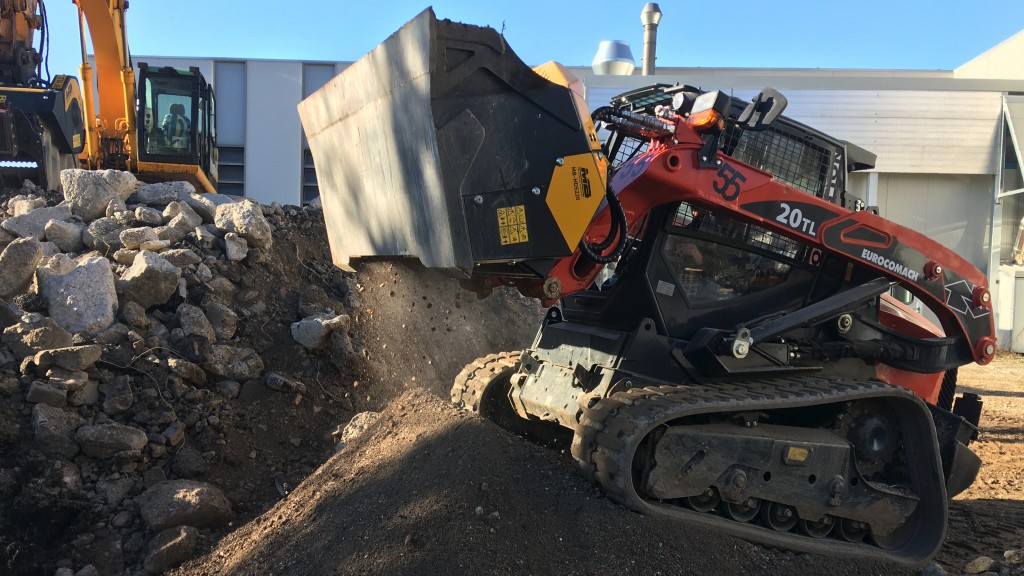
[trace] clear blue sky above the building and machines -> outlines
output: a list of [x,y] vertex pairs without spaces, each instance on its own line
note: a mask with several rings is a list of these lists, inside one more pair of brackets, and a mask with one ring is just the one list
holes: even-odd
[[[428,4],[133,0],[136,55],[352,60]],[[658,66],[951,70],[1024,29],[1022,0],[659,2]],[[436,0],[438,17],[497,30],[529,65],[589,66],[602,39],[640,65],[641,1]],[[47,3],[50,72],[77,75],[77,12]],[[1024,65],[1022,65],[1024,66]]]

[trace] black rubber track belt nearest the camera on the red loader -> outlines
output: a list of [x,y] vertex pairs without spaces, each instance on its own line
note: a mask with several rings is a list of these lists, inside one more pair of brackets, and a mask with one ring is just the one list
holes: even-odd
[[584,412],[572,441],[572,455],[581,463],[584,475],[600,484],[611,499],[647,515],[696,525],[715,524],[726,532],[773,547],[885,559],[918,566],[938,549],[941,535],[928,558],[921,554],[906,558],[867,544],[815,540],[645,500],[632,487],[631,461],[636,446],[650,430],[665,422],[703,413],[777,410],[879,397],[914,398],[905,388],[883,382],[821,377],[774,378],[713,386],[636,387],[603,399]]

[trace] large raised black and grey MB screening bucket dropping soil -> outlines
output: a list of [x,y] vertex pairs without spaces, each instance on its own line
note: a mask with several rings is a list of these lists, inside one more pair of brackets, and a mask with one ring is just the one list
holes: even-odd
[[605,190],[574,81],[495,30],[427,9],[299,105],[334,263],[478,263],[570,254]]

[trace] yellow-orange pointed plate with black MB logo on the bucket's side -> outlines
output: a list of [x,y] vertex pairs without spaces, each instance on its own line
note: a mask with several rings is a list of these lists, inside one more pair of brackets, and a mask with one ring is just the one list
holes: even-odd
[[551,173],[545,202],[569,251],[575,250],[604,200],[606,162],[596,154],[566,156]]

